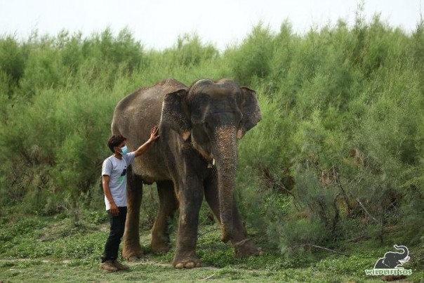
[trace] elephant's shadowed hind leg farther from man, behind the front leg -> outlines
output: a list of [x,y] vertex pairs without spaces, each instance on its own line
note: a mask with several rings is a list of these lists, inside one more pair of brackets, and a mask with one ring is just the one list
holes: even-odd
[[159,195],[159,212],[152,229],[152,252],[169,251],[169,225],[173,221],[178,202],[172,181],[157,182]]

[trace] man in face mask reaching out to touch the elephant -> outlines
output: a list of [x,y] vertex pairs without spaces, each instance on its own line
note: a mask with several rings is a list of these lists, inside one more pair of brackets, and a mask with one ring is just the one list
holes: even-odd
[[126,138],[121,135],[112,136],[107,146],[113,152],[102,164],[102,186],[105,192],[106,211],[110,221],[110,234],[105,244],[100,268],[115,272],[128,270],[129,267],[117,261],[119,244],[124,235],[126,221],[126,168],[134,158],[145,152],[159,138],[157,126],[152,128],[150,138],[134,152],[128,152]]

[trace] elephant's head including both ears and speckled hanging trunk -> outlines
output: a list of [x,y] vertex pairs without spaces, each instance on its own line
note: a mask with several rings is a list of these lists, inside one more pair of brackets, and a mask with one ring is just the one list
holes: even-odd
[[161,124],[166,123],[209,163],[216,164],[223,241],[232,237],[233,190],[237,138],[260,121],[256,92],[230,79],[201,79],[164,98]]

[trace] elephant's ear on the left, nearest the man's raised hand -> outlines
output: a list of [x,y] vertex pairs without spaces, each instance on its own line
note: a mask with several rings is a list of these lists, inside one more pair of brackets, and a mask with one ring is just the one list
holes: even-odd
[[186,89],[180,89],[166,94],[162,104],[161,125],[173,129],[184,140],[190,138],[192,126],[188,118],[187,105],[185,104]]

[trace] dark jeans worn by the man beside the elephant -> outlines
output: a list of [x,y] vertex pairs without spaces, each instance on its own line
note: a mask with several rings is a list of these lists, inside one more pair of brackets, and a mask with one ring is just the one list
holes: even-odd
[[119,215],[113,216],[110,210],[107,211],[110,222],[110,233],[105,244],[105,252],[102,256],[102,263],[114,261],[118,258],[119,244],[124,235],[126,221],[126,206],[118,207]]

